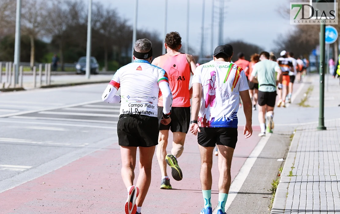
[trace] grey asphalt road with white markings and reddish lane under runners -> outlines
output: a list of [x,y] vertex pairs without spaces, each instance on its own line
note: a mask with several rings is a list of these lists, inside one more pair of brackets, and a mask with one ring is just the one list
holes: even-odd
[[[103,207],[105,213],[122,210],[125,196],[116,133],[119,104],[101,101],[106,85],[0,93],[0,205],[4,208],[0,213],[57,210],[75,213],[81,212],[80,207],[87,213],[101,213]],[[275,109],[275,133],[268,137],[268,142],[262,142],[256,161],[248,166],[249,174],[243,174],[244,183],[229,208],[232,213],[269,212],[270,181],[283,164],[277,159],[284,158],[290,134],[298,124],[318,119],[317,108],[301,108],[296,104],[307,88],[308,84],[295,84],[294,102],[288,108]],[[335,117],[339,117],[337,108],[327,107],[325,119]],[[261,144],[257,137],[257,112],[253,114],[254,136],[248,141],[241,133],[245,123],[242,109],[238,118],[239,142],[233,159],[233,179]],[[180,162],[187,171],[187,180],[174,182],[177,190],[169,192],[180,206],[161,200],[168,194],[159,190],[159,166],[154,157],[150,202],[143,213],[170,209],[173,213],[196,214],[201,209],[198,148],[192,136],[188,135],[187,142]],[[213,176],[218,176],[216,169]],[[45,183],[48,185],[44,186]],[[110,189],[112,186],[115,189]],[[86,189],[82,191],[81,187]],[[98,188],[100,192],[90,192]],[[216,185],[213,189],[216,199]],[[89,199],[94,196],[96,200]],[[186,207],[187,201],[190,207]]]

